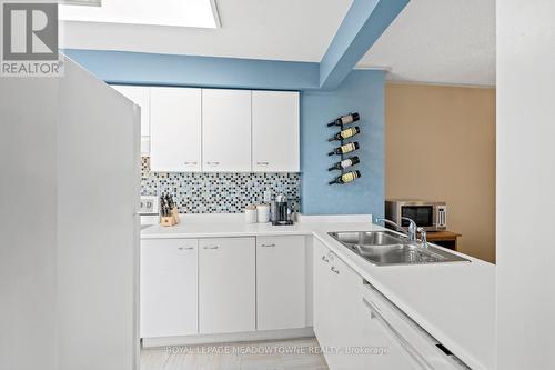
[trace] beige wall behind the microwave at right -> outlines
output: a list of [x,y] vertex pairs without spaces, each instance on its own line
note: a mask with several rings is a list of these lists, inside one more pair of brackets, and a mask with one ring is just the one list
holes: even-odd
[[495,89],[389,83],[386,198],[444,200],[460,250],[495,261]]

